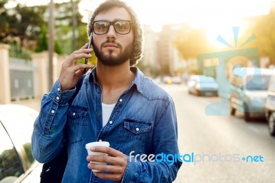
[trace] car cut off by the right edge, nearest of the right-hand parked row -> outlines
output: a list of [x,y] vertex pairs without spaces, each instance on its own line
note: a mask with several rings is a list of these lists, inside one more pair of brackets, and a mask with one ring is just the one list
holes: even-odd
[[265,118],[268,122],[268,131],[275,136],[275,71],[270,78],[265,103]]

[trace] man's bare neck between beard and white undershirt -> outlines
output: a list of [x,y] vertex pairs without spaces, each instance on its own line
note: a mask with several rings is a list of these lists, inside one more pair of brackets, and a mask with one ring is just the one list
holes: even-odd
[[98,61],[96,66],[96,77],[102,89],[109,90],[129,87],[135,74],[130,70],[129,61],[118,66],[102,65],[102,63]]

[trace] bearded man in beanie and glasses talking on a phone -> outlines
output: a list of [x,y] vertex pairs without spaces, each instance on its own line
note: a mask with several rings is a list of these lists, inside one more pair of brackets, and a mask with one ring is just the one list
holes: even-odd
[[[78,78],[93,67],[74,62],[90,58],[92,50],[86,44],[63,63],[34,123],[34,158],[50,162],[67,147],[63,182],[173,182],[181,162],[171,163],[173,158],[164,155],[179,151],[175,107],[164,89],[131,67],[142,55],[136,15],[122,1],[105,1],[91,15],[91,32],[97,65],[69,106]],[[110,147],[91,151],[108,155],[87,156],[85,144],[100,140]],[[163,160],[152,161],[151,154],[163,155]]]

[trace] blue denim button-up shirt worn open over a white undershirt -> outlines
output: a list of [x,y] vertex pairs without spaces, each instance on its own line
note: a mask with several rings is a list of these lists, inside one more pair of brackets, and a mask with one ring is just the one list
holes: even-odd
[[71,106],[67,102],[76,89],[62,92],[57,80],[52,91],[43,96],[39,117],[34,122],[34,158],[41,163],[50,162],[67,147],[69,158],[63,182],[111,182],[101,180],[87,168],[85,149],[89,142],[108,141],[110,147],[128,158],[121,182],[173,182],[181,162],[140,158],[142,154],[179,152],[173,99],[139,69],[131,67],[131,71],[135,78],[118,99],[104,127],[102,89],[96,82],[96,68],[85,76]]

